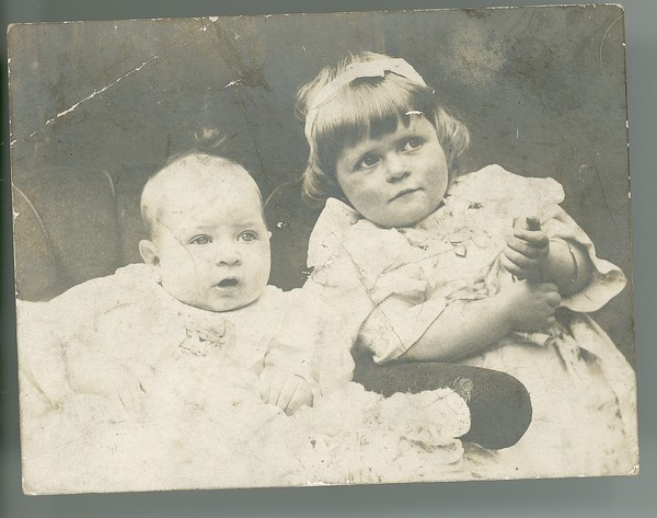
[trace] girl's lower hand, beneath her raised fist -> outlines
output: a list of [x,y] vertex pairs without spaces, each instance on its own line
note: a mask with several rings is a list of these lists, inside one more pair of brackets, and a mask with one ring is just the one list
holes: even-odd
[[538,331],[554,323],[554,310],[561,303],[555,285],[514,283],[504,293],[515,331]]

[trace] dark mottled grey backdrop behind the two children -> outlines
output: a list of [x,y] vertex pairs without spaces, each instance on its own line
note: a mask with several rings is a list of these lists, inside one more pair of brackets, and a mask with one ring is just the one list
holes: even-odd
[[[630,273],[622,18],[620,8],[600,5],[15,25],[8,42],[12,177],[62,265],[57,280],[43,278],[49,254],[22,215],[19,296],[51,297],[141,262],[146,177],[204,127],[226,131],[222,154],[241,162],[267,198],[308,158],[292,116],[298,85],[362,49],[406,58],[465,122],[464,171],[498,163],[554,177],[598,255]],[[227,88],[235,78],[240,85]],[[104,212],[90,188],[100,171],[113,179],[120,208]],[[53,177],[67,187],[54,187]],[[302,234],[316,215],[295,214],[298,195],[277,203],[281,210],[266,210],[269,223],[288,225],[272,225],[270,283],[290,289],[301,284],[291,280],[302,279]],[[114,214],[118,228],[108,223]],[[31,283],[58,286],[44,293]],[[593,318],[634,364],[631,300],[627,287]]]

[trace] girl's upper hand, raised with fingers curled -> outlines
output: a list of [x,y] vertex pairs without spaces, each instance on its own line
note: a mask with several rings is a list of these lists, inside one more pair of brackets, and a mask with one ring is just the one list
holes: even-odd
[[507,239],[502,265],[519,279],[542,280],[542,269],[550,254],[550,239],[537,218],[516,219],[514,235]]

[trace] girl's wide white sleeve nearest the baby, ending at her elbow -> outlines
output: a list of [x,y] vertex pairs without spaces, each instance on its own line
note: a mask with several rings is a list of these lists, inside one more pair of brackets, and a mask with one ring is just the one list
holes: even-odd
[[304,289],[322,300],[349,345],[360,337],[376,361],[392,360],[445,310],[443,298],[429,297],[431,262],[397,230],[377,227],[330,202],[311,237],[312,274]]

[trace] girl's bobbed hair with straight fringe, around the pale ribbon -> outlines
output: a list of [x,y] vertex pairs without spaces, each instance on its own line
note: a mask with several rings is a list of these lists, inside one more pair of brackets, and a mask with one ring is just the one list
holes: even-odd
[[302,174],[302,195],[310,206],[321,208],[328,197],[348,202],[335,177],[342,150],[364,138],[376,139],[393,133],[400,120],[408,124],[410,117],[405,116],[408,112],[422,112],[434,125],[447,158],[450,179],[458,175],[459,158],[470,145],[470,134],[462,122],[441,106],[435,92],[422,79],[418,82],[388,70],[374,77],[356,74],[351,81],[338,85],[325,102],[314,105],[320,94],[325,95],[322,91],[351,64],[390,59],[369,51],[349,55],[337,66],[322,69],[297,92],[297,115],[307,119],[309,112],[313,112],[310,127],[307,124],[310,154]]

